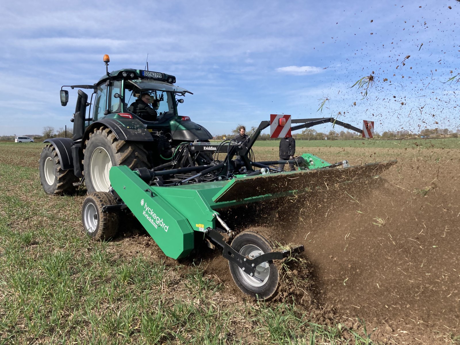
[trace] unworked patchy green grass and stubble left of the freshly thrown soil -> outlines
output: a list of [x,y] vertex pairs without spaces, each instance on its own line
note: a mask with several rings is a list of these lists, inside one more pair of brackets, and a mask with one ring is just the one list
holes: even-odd
[[84,193],[43,192],[42,146],[0,144],[0,345],[374,344],[365,327],[315,323],[293,300],[245,302],[199,266],[92,242]]

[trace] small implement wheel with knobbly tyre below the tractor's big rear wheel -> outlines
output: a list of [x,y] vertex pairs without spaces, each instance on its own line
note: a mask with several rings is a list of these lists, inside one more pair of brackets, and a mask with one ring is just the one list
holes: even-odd
[[118,232],[118,213],[103,212],[107,205],[115,205],[116,199],[110,193],[94,192],[89,194],[81,207],[81,223],[86,235],[92,240],[108,240]]

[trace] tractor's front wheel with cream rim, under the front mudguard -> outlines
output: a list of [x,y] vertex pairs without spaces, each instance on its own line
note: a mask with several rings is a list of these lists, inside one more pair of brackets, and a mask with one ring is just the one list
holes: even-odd
[[74,182],[78,178],[73,170],[63,170],[57,151],[52,144],[46,145],[40,154],[40,183],[43,190],[51,195],[75,193]]

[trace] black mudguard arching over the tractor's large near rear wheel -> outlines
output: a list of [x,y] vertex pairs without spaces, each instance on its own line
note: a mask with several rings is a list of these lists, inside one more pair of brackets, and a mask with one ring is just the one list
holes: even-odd
[[118,140],[126,141],[153,141],[152,135],[144,124],[137,119],[112,119],[105,118],[93,122],[85,131],[85,139],[89,137],[94,128],[109,127]]

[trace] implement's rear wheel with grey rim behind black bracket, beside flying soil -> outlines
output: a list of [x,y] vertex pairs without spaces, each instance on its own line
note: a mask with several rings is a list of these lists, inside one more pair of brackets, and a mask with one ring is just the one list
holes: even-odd
[[[265,237],[252,231],[243,231],[231,242],[231,247],[241,255],[253,259],[272,251]],[[278,288],[279,274],[273,261],[265,261],[256,267],[256,274],[249,276],[235,263],[229,261],[230,274],[236,286],[255,299],[272,297]]]

